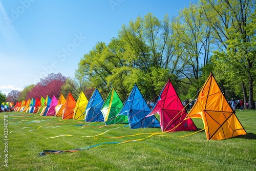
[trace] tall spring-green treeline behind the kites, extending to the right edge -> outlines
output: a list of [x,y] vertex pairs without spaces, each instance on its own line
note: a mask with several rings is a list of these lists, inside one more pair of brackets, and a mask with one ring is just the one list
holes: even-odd
[[156,99],[168,78],[180,98],[193,98],[212,72],[227,98],[252,103],[255,84],[255,0],[201,0],[163,19],[148,13],[123,25],[109,44],[98,42],[76,71],[103,97],[122,99],[135,83]]

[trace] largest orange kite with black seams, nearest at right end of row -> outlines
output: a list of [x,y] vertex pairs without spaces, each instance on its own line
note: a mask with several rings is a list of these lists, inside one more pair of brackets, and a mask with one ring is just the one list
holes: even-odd
[[212,73],[205,81],[187,118],[202,118],[208,140],[221,140],[247,134]]

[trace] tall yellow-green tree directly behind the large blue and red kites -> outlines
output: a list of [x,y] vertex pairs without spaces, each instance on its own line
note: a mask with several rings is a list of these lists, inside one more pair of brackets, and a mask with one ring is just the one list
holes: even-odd
[[128,26],[123,25],[118,34],[129,52],[125,59],[131,66],[124,84],[131,89],[137,83],[144,97],[154,101],[167,79],[176,79],[183,66],[175,53],[171,24],[168,15],[160,21],[148,13],[144,18],[131,20]]

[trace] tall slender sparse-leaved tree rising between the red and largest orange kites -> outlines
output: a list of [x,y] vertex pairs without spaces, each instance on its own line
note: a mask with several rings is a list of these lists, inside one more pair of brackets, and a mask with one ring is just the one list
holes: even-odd
[[[184,62],[181,78],[184,83],[190,84],[197,93],[202,84],[202,68],[209,60],[211,43],[211,26],[203,17],[203,5],[190,3],[188,8],[180,11],[180,15],[173,24],[176,34],[177,53]],[[202,60],[203,59],[203,60]],[[195,96],[191,95],[191,97]],[[191,98],[190,97],[190,98]]]

